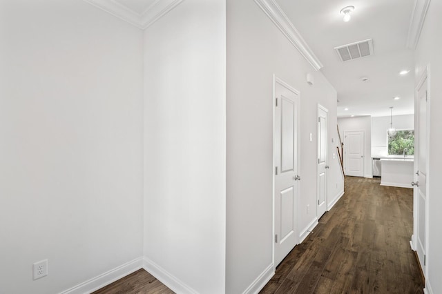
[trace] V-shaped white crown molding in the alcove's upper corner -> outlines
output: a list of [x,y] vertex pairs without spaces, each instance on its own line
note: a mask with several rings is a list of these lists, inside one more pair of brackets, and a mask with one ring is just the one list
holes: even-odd
[[142,14],[137,13],[115,0],[84,0],[93,6],[100,8],[131,25],[144,30],[160,19],[164,14],[171,11],[184,0],[161,0],[155,1]]

